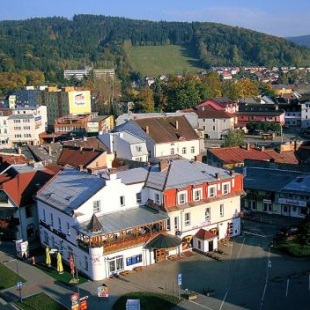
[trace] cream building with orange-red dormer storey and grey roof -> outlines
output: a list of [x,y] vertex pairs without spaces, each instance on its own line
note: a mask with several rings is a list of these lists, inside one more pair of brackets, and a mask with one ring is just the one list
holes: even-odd
[[[212,251],[219,240],[241,232],[242,174],[198,161],[163,161],[150,169],[144,191],[148,204],[168,213],[167,229],[182,239],[182,251]],[[201,229],[210,233],[204,249]]]

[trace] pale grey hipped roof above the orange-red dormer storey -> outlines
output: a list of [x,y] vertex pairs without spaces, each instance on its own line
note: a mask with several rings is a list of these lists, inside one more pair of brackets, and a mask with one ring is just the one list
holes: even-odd
[[232,178],[227,170],[198,161],[177,159],[172,160],[169,167],[161,172],[159,167],[152,168],[145,185],[158,190],[182,188],[188,185],[214,182],[217,180],[216,173],[219,173],[221,180]]

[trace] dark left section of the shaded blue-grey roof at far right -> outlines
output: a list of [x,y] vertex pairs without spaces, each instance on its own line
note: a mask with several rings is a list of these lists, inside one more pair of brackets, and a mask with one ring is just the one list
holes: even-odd
[[244,189],[279,192],[300,175],[297,171],[246,167],[243,179]]

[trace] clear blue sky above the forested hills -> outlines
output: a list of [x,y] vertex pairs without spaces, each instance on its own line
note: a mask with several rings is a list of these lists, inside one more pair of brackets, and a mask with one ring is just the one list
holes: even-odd
[[310,35],[310,0],[1,0],[0,20],[74,14],[200,21],[276,36]]

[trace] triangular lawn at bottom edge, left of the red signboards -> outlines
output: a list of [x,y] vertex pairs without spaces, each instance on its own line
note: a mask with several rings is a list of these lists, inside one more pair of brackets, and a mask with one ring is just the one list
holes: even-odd
[[49,310],[64,310],[66,309],[55,300],[50,298],[48,295],[44,293],[39,293],[33,295],[31,297],[23,299],[23,302],[15,302],[16,306],[19,309],[24,310],[42,310],[42,309],[49,309]]

